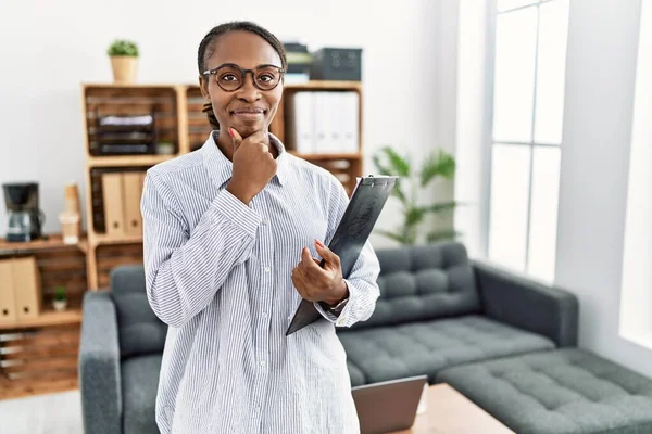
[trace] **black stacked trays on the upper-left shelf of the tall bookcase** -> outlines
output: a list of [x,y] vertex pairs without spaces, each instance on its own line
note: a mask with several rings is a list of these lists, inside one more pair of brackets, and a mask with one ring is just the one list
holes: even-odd
[[99,116],[96,112],[95,135],[89,139],[95,156],[155,154],[154,114]]

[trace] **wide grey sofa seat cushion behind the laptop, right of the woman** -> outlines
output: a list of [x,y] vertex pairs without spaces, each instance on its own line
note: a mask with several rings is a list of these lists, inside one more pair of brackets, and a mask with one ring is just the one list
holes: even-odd
[[554,347],[552,341],[480,316],[340,333],[367,382],[427,374],[451,366]]

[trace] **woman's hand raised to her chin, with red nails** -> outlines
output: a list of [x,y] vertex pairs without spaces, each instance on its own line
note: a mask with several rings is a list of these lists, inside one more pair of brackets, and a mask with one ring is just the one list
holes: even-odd
[[249,205],[276,175],[277,163],[269,152],[266,131],[259,130],[246,139],[234,128],[228,133],[234,142],[234,174],[226,189]]

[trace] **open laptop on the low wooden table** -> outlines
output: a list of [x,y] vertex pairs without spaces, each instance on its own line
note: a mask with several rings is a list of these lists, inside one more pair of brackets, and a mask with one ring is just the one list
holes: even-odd
[[352,387],[361,434],[410,429],[427,381],[417,375]]

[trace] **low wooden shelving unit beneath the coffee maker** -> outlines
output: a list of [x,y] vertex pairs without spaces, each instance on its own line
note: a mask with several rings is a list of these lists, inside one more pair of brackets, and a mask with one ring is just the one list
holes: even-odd
[[[0,399],[77,386],[87,246],[85,238],[76,244],[64,244],[58,234],[28,243],[0,239],[1,259],[35,258],[42,298],[38,316],[0,322]],[[52,308],[54,288],[59,285],[65,286],[68,298],[64,311]]]

